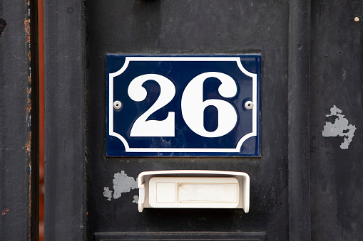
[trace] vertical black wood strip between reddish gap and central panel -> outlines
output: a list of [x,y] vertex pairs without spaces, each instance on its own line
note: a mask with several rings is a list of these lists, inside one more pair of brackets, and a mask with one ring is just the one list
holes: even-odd
[[84,240],[83,1],[44,1],[46,240]]

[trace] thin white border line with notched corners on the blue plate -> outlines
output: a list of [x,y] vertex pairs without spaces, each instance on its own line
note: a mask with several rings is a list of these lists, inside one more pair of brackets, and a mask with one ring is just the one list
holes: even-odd
[[[133,148],[128,146],[126,139],[116,132],[113,132],[113,78],[121,75],[128,64],[132,61],[218,61],[218,62],[235,62],[238,68],[245,75],[252,77],[252,132],[245,134],[238,141],[235,148]],[[108,86],[108,131],[110,136],[120,139],[125,146],[126,152],[240,152],[241,146],[245,140],[252,136],[257,136],[257,74],[250,73],[243,68],[240,57],[126,57],[123,67],[115,73],[109,75]]]

